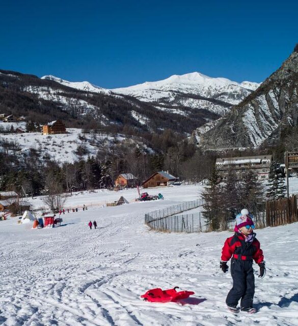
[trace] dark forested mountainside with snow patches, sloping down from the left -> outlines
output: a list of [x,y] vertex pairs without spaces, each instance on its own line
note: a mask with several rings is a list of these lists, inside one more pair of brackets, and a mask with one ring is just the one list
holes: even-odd
[[[35,122],[61,119],[68,127],[100,127],[105,132],[162,132],[172,129],[181,135],[191,134],[207,121],[219,118],[207,110],[160,110],[153,103],[140,101],[111,90],[97,88],[88,82],[70,83],[53,76],[0,70],[0,112],[24,115]],[[8,103],[8,104],[7,104]]]

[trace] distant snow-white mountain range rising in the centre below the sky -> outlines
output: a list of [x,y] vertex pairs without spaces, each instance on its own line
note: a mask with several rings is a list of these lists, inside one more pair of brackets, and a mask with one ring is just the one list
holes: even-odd
[[187,116],[192,110],[207,110],[219,116],[230,111],[260,84],[232,82],[227,78],[212,78],[199,72],[173,75],[157,82],[145,82],[125,88],[104,89],[89,82],[67,82],[55,76],[43,76],[78,90],[123,94],[143,102],[152,102],[157,110]]

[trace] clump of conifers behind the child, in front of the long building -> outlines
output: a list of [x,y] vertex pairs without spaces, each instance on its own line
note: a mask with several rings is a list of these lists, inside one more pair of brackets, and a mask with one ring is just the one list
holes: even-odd
[[209,230],[227,230],[242,208],[253,213],[255,223],[265,226],[265,202],[286,197],[285,174],[273,161],[268,182],[258,179],[252,169],[236,173],[232,168],[225,178],[215,167],[201,194],[204,199],[203,215]]

